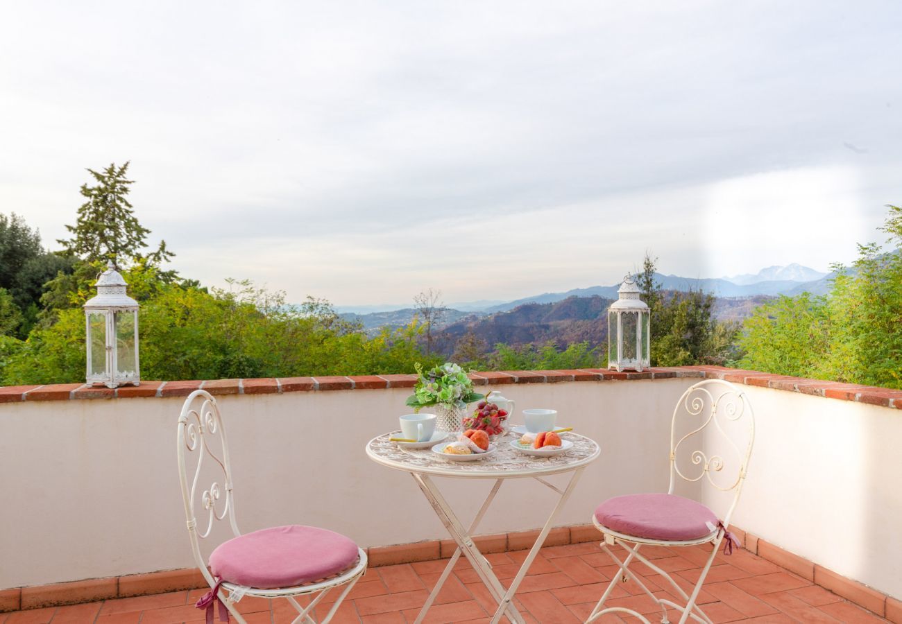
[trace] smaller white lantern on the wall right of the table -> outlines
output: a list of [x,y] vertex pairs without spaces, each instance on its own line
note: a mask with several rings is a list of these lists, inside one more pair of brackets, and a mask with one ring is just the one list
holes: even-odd
[[642,372],[651,366],[649,306],[631,275],[617,292],[620,298],[608,308],[608,368]]

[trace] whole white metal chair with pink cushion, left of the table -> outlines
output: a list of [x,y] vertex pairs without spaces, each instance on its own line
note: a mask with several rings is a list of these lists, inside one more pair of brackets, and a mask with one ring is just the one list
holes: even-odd
[[[211,588],[198,601],[198,608],[207,608],[207,622],[212,621],[214,605],[218,602],[220,620],[226,621],[231,613],[238,622],[244,623],[235,603],[244,596],[258,596],[285,598],[298,610],[298,617],[293,622],[316,624],[317,604],[330,590],[344,585],[321,621],[325,624],[332,619],[354,583],[365,574],[366,553],[347,537],[321,528],[290,526],[241,534],[235,522],[226,431],[216,399],[204,390],[192,392],[181,408],[178,456],[191,550]],[[194,456],[197,456],[197,464],[189,469],[186,459]],[[198,482],[206,458],[216,473],[216,481],[202,490],[203,486],[198,486]],[[198,530],[196,500],[207,513],[201,523],[201,526],[207,525],[203,530]],[[200,512],[201,515],[204,513]],[[226,516],[235,537],[216,547],[210,555],[210,569],[207,570],[200,553],[200,539],[209,536],[216,521]],[[247,579],[254,580],[253,586]],[[299,596],[310,596],[306,606],[296,600]]]

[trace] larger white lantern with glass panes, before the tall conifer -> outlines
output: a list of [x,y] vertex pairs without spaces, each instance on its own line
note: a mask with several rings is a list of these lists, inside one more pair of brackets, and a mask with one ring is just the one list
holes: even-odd
[[107,262],[97,276],[97,297],[84,305],[87,334],[87,386],[137,386],[138,302],[125,294],[128,284]]

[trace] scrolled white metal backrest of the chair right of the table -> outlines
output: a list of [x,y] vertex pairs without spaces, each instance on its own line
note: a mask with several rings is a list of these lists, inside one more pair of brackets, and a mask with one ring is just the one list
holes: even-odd
[[[678,427],[688,422],[690,430]],[[683,393],[670,423],[670,493],[676,478],[706,481],[719,491],[734,491],[724,524],[739,500],[755,440],[755,417],[749,399],[729,381],[705,380]],[[713,451],[712,447],[723,450]],[[681,464],[682,457],[688,462]],[[720,477],[720,478],[718,478]]]

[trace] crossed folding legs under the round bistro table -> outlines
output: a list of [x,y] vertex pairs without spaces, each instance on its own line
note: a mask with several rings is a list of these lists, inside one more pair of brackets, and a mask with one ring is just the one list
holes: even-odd
[[545,538],[548,537],[548,531],[551,530],[551,526],[554,523],[555,518],[557,518],[557,513],[564,507],[566,500],[569,499],[570,494],[573,493],[576,482],[579,481],[579,477],[583,473],[583,470],[583,468],[577,468],[574,471],[573,476],[570,477],[570,482],[567,483],[567,486],[564,490],[557,488],[557,486],[552,485],[544,479],[540,479],[538,477],[536,478],[536,481],[542,483],[551,490],[556,491],[560,496],[560,499],[557,501],[555,509],[551,511],[551,515],[548,517],[548,521],[545,523],[545,526],[542,528],[542,530],[538,534],[538,537],[536,538],[536,543],[533,544],[532,548],[529,549],[529,554],[526,555],[526,559],[523,561],[523,564],[520,565],[520,570],[511,581],[511,586],[507,590],[504,589],[501,581],[499,581],[498,577],[494,574],[494,572],[492,572],[492,564],[489,564],[488,560],[483,556],[482,553],[479,552],[479,549],[476,548],[473,541],[473,533],[476,530],[476,527],[479,525],[480,520],[483,519],[485,512],[492,504],[492,500],[494,500],[495,494],[497,494],[498,490],[501,488],[503,480],[498,479],[495,481],[495,484],[492,487],[492,491],[489,492],[488,497],[483,502],[483,506],[476,514],[476,517],[474,518],[473,523],[470,525],[470,528],[465,530],[460,520],[457,519],[454,510],[451,509],[450,505],[448,505],[447,501],[445,500],[445,497],[443,497],[441,492],[438,491],[435,482],[433,482],[428,477],[428,475],[414,473],[413,478],[419,485],[419,489],[422,490],[423,494],[426,495],[429,504],[432,505],[432,509],[435,509],[438,518],[442,521],[442,524],[445,525],[448,533],[452,538],[454,538],[457,544],[454,555],[451,556],[451,560],[445,566],[445,570],[442,572],[441,576],[439,576],[438,581],[436,582],[436,586],[432,589],[432,592],[429,594],[426,603],[419,611],[419,615],[417,616],[414,624],[420,624],[423,619],[426,618],[426,613],[432,606],[432,603],[436,600],[438,592],[441,591],[442,585],[445,584],[448,575],[451,574],[451,571],[454,569],[454,566],[457,563],[457,560],[460,558],[461,553],[463,553],[469,560],[470,564],[473,565],[475,573],[479,576],[485,587],[492,594],[492,598],[498,602],[498,609],[495,610],[494,616],[492,617],[492,624],[497,624],[497,622],[500,622],[502,615],[505,612],[507,612],[507,616],[510,621],[517,622],[517,624],[525,624],[525,620],[513,604],[514,594],[517,592],[517,588],[520,587],[520,583],[523,581],[523,577],[525,577],[527,571],[529,571],[529,566],[538,555],[538,550],[545,543]]

